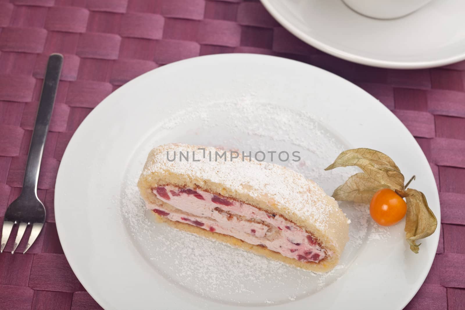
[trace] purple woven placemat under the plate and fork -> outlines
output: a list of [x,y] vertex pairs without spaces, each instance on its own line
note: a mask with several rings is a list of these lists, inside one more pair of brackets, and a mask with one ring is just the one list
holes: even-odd
[[336,73],[407,126],[440,189],[442,224],[432,269],[406,309],[465,309],[465,61],[408,71],[353,64],[296,39],[257,1],[0,0],[1,216],[20,193],[53,52],[65,62],[39,178],[46,225],[28,254],[0,255],[0,309],[100,309],[66,261],[53,214],[55,178],[73,132],[100,100],[141,73],[179,59],[244,52]]

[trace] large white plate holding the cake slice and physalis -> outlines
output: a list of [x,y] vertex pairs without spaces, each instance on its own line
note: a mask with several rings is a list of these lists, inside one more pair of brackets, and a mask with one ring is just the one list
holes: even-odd
[[135,183],[148,151],[167,142],[299,150],[302,161],[292,167],[328,193],[354,171],[323,171],[339,152],[378,149],[406,177],[417,175],[414,186],[440,221],[436,184],[419,145],[359,87],[271,56],[183,60],[103,100],[61,161],[55,190],[60,241],[76,276],[104,308],[401,309],[423,283],[439,230],[415,255],[403,223],[381,229],[366,206],[343,206],[352,220],[351,241],[341,264],[325,275],[153,223]]

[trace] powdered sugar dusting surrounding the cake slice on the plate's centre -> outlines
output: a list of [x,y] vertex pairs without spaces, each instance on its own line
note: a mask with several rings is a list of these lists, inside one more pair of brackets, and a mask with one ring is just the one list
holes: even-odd
[[197,112],[194,107],[180,112],[147,133],[126,169],[120,198],[122,222],[140,255],[173,289],[178,287],[179,294],[188,290],[230,304],[291,303],[343,277],[368,241],[382,240],[385,232],[373,228],[368,206],[340,204],[351,221],[350,240],[339,265],[330,273],[316,274],[155,223],[136,186],[149,150],[171,142],[251,151],[298,150],[300,162],[280,164],[314,179],[329,194],[356,171],[323,170],[349,147],[310,115],[250,102],[215,102],[201,109],[197,105]]

